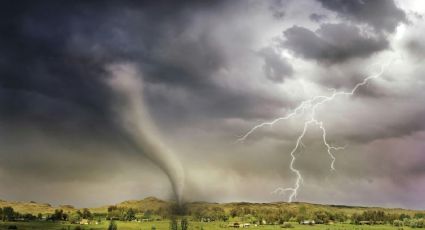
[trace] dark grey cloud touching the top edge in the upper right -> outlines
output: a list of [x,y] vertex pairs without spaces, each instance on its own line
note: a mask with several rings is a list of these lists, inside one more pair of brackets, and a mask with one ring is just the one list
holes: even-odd
[[394,32],[397,25],[406,22],[406,14],[394,1],[363,0],[319,0],[327,9],[335,11],[339,17],[366,23],[377,31]]

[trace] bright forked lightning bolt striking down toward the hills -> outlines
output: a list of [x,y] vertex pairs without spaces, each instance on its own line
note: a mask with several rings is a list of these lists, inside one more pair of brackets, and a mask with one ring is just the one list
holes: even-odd
[[346,92],[346,91],[336,91],[336,89],[331,89],[332,94],[330,96],[323,96],[323,95],[315,96],[315,97],[310,98],[308,100],[302,101],[298,105],[298,107],[293,109],[292,112],[288,113],[287,115],[285,115],[283,117],[278,117],[278,118],[276,118],[272,121],[260,123],[256,126],[254,126],[253,128],[251,128],[248,132],[246,132],[244,135],[242,135],[239,139],[237,139],[237,142],[244,142],[251,134],[253,134],[255,131],[257,131],[260,128],[263,128],[265,126],[273,126],[274,124],[276,124],[280,121],[289,120],[289,119],[291,119],[291,118],[293,118],[297,115],[305,114],[306,111],[310,111],[308,118],[304,121],[303,130],[300,133],[300,135],[297,137],[296,142],[295,142],[295,146],[293,147],[293,149],[290,152],[291,161],[290,161],[290,164],[289,164],[289,169],[296,175],[295,183],[292,187],[287,187],[287,188],[278,187],[272,193],[283,195],[283,194],[286,194],[287,192],[289,192],[288,202],[292,202],[297,197],[298,190],[299,190],[299,188],[300,188],[300,186],[303,182],[303,177],[301,175],[300,170],[294,167],[294,163],[297,159],[296,156],[295,156],[295,153],[300,148],[300,146],[304,146],[304,144],[302,143],[302,140],[303,140],[305,134],[307,133],[308,128],[312,125],[317,126],[321,130],[323,145],[326,147],[327,154],[329,155],[329,157],[331,159],[330,169],[331,169],[331,171],[335,170],[335,160],[336,160],[336,158],[333,154],[333,151],[341,150],[341,149],[344,149],[345,147],[332,146],[332,145],[329,144],[329,142],[327,140],[325,125],[324,125],[323,121],[318,120],[316,118],[316,109],[318,107],[324,105],[327,102],[331,102],[332,100],[334,100],[338,96],[352,96],[352,95],[354,95],[360,87],[365,86],[365,85],[368,84],[369,81],[382,76],[382,74],[385,72],[385,70],[388,68],[388,66],[394,60],[395,59],[389,61],[386,64],[382,64],[380,71],[378,73],[372,74],[372,75],[364,78],[363,81],[357,83],[351,89],[351,91]]

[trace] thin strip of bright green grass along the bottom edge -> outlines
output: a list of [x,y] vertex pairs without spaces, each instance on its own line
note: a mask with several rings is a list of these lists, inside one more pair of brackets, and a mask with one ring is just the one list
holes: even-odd
[[[151,230],[153,226],[155,226],[158,230],[167,230],[169,229],[169,222],[168,221],[154,221],[154,222],[145,222],[145,223],[138,223],[138,222],[123,222],[123,221],[117,221],[118,229],[119,230]],[[16,225],[18,229],[43,229],[43,230],[74,230],[77,226],[80,226],[81,229],[85,230],[100,230],[100,229],[107,229],[109,222],[104,221],[101,224],[90,224],[90,225],[78,225],[78,224],[68,224],[68,223],[51,223],[51,222],[0,222],[0,229],[7,229],[10,225]],[[397,230],[397,229],[411,229],[409,227],[404,228],[397,228],[393,227],[391,225],[351,225],[351,224],[332,224],[332,225],[325,225],[325,224],[318,224],[318,225],[300,225],[297,223],[292,223],[294,230],[366,230],[366,229],[391,229],[391,230]],[[228,223],[225,222],[210,222],[210,223],[201,223],[201,222],[190,222],[189,223],[189,229],[204,229],[204,230],[216,230],[216,229],[233,229],[227,227]],[[284,229],[279,225],[260,225],[260,226],[251,226],[246,229]]]

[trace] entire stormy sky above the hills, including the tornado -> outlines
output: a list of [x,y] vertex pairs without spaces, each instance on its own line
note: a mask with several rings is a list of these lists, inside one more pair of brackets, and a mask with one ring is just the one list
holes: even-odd
[[[0,7],[0,198],[425,209],[422,1],[18,1]],[[311,112],[311,111],[310,111]],[[170,181],[171,179],[171,181]],[[174,182],[173,182],[174,181]],[[176,182],[178,181],[178,182]]]

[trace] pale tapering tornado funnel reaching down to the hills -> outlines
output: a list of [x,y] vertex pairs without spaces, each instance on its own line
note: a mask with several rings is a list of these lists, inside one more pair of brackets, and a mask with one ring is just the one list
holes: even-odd
[[170,180],[178,204],[182,202],[184,170],[174,154],[161,140],[143,99],[141,74],[132,64],[107,67],[107,84],[116,96],[114,110],[118,123],[138,151],[156,164]]

